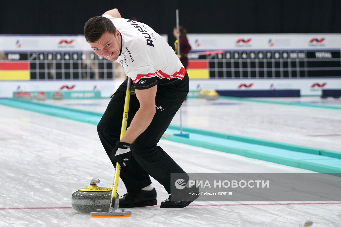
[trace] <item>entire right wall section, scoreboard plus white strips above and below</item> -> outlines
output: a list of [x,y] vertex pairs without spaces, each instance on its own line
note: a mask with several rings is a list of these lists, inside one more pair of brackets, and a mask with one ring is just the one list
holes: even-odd
[[[191,89],[341,89],[340,34],[188,34]],[[202,51],[215,51],[206,53]],[[198,53],[202,52],[202,53]],[[206,67],[205,67],[206,66]]]

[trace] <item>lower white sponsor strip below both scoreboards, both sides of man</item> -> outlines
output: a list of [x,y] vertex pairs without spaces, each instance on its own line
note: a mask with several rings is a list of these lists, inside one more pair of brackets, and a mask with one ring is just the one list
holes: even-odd
[[[0,97],[12,97],[16,91],[101,91],[110,97],[122,80],[55,80],[1,81]],[[301,95],[321,95],[322,89],[340,89],[340,79],[191,79],[189,89],[195,90],[300,90]],[[192,94],[190,94],[192,96]],[[193,94],[196,96],[196,94]]]

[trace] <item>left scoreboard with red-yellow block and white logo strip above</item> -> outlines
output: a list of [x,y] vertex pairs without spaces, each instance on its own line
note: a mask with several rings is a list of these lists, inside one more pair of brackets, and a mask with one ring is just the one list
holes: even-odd
[[116,78],[122,66],[94,54],[84,35],[0,35],[0,80]]

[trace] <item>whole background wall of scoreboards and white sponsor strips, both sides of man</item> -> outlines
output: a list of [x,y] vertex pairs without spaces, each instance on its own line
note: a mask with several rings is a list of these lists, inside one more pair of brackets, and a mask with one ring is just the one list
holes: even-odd
[[[340,34],[188,34],[188,39],[194,51],[188,55],[190,77],[205,78],[191,79],[191,90],[300,89],[302,95],[320,95],[322,89],[341,89]],[[220,52],[195,53],[207,50]],[[83,35],[0,35],[0,97],[62,87],[96,89],[108,97],[124,76],[119,64],[96,56]]]

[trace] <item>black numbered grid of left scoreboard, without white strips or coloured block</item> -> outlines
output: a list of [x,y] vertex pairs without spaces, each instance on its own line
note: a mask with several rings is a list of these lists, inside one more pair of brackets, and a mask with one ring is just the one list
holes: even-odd
[[[113,79],[113,62],[85,51],[7,52],[0,60],[27,62],[30,80]],[[1,70],[1,68],[0,68]]]

